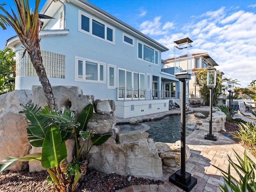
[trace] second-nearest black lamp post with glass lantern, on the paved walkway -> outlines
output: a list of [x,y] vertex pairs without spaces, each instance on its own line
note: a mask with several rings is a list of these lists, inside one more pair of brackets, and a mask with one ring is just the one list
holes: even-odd
[[209,68],[207,71],[207,87],[210,89],[210,123],[209,134],[204,136],[204,139],[216,141],[217,138],[212,134],[212,89],[216,86],[216,69]]

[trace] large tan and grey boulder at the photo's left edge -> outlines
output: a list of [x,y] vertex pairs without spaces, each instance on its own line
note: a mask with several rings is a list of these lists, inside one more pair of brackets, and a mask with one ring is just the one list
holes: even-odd
[[[20,104],[31,102],[31,90],[14,90],[0,95],[0,161],[8,156],[22,157],[29,153],[27,139],[27,119],[19,111],[24,110]],[[28,162],[17,162],[10,170],[24,170]]]

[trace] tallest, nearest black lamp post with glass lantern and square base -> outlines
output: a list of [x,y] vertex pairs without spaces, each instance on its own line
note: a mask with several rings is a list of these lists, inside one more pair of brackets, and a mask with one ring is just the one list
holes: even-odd
[[[187,61],[180,62],[180,56],[176,56],[176,49],[183,50],[191,48],[190,38],[184,38],[175,41],[174,46],[174,68],[176,79],[181,82],[181,135],[180,135],[180,170],[176,171],[169,177],[169,181],[174,185],[182,188],[186,192],[192,190],[196,185],[197,179],[192,177],[190,173],[186,172],[186,80],[190,79],[192,74],[191,70],[191,56],[192,54],[187,53]],[[190,63],[189,59],[190,58]],[[189,68],[190,65],[190,68]]]

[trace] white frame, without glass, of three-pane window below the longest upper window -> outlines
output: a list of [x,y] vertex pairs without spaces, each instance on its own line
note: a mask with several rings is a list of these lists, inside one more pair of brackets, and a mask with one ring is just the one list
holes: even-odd
[[[78,60],[83,61],[83,78],[78,78]],[[98,80],[86,79],[86,61],[98,64]],[[100,80],[100,66],[101,65],[104,67],[103,68],[103,81]],[[106,83],[106,63],[75,56],[75,81],[91,82],[91,83]]]

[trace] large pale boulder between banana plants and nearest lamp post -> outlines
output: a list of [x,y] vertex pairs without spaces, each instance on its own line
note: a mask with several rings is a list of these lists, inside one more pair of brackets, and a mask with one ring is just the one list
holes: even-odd
[[153,139],[117,143],[114,134],[90,150],[88,167],[105,173],[162,179],[162,160]]

